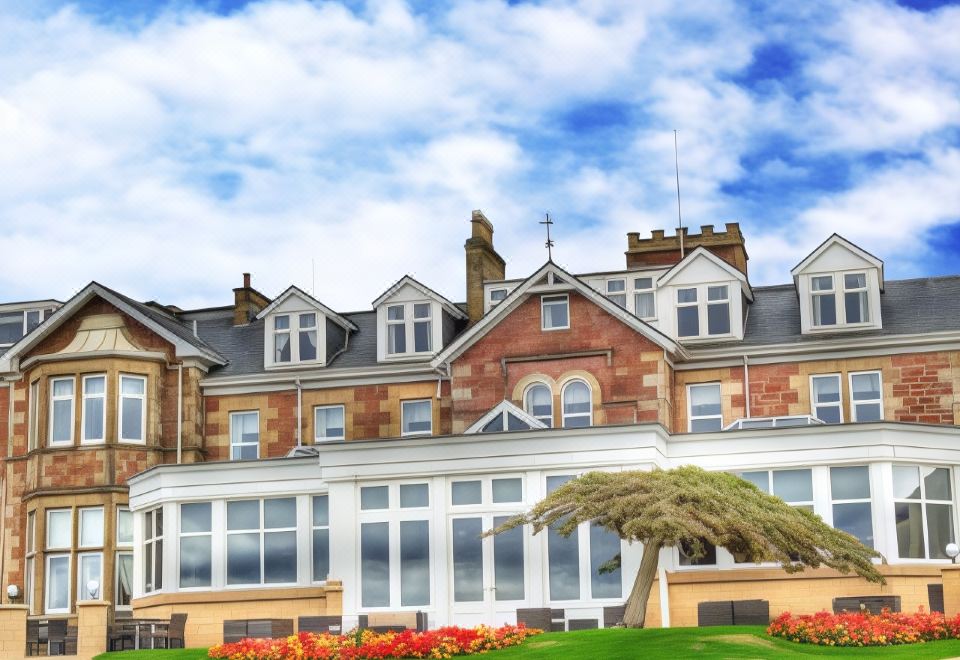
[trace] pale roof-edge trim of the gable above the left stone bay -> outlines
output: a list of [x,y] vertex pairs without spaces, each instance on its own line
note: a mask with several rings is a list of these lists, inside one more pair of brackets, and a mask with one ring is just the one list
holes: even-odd
[[97,282],[91,282],[70,300],[51,314],[36,330],[23,337],[10,347],[0,359],[0,372],[11,371],[19,359],[30,349],[37,346],[54,330],[80,310],[95,297],[102,298],[135,321],[155,332],[158,336],[173,344],[178,357],[194,357],[210,364],[226,364],[226,359],[199,337],[190,333],[179,321],[166,317],[143,303],[109,289]]

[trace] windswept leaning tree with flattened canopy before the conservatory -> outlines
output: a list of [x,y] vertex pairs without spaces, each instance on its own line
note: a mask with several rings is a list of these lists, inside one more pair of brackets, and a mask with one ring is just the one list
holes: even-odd
[[[643,626],[662,548],[681,547],[695,560],[704,556],[709,543],[726,548],[738,561],[779,562],[787,573],[829,566],[841,573],[858,573],[870,582],[884,582],[871,561],[879,553],[853,536],[739,477],[693,466],[590,472],[486,534],[529,524],[534,534],[552,527],[569,536],[584,522],[643,544],[640,570],[624,614],[628,627]],[[618,554],[600,570],[614,571],[619,566]]]

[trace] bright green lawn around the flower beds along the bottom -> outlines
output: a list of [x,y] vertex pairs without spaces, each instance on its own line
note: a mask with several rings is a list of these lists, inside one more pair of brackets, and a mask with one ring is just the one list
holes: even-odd
[[[795,644],[768,637],[762,626],[717,626],[714,628],[614,628],[547,633],[531,637],[522,646],[484,655],[495,660],[627,660],[632,658],[953,658],[960,657],[960,640],[886,646],[866,649],[837,649]],[[206,649],[170,651],[118,651],[94,660],[200,660]]]

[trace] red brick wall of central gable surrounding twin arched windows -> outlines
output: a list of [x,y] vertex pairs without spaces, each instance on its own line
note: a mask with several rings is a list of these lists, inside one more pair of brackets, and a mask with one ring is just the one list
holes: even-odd
[[[669,371],[663,364],[663,350],[576,293],[570,294],[570,325],[569,330],[541,330],[540,296],[532,296],[457,358],[452,378],[454,433],[503,399],[513,399],[514,389],[525,377],[543,374],[557,380],[574,371],[586,371],[599,383],[601,403],[595,402],[594,424],[660,419],[658,399],[667,396]],[[507,373],[501,371],[503,357],[593,350],[611,350],[610,364],[602,355],[508,362]],[[513,402],[522,406],[519,396]],[[555,409],[558,403],[555,399]]]

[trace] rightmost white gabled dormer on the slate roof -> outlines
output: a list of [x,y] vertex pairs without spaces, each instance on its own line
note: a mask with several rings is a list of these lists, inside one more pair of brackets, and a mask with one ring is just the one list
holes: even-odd
[[883,327],[883,262],[838,234],[790,271],[800,298],[803,334]]

